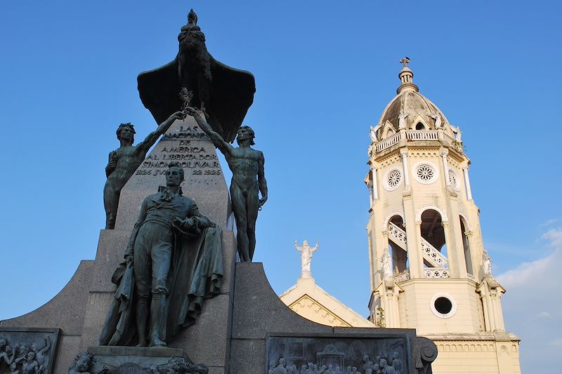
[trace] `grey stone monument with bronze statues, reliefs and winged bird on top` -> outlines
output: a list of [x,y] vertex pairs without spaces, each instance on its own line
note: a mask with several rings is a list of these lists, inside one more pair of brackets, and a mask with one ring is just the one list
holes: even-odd
[[[268,198],[263,154],[241,126],[254,76],[214,60],[204,41],[190,11],[176,58],[139,74],[160,124],[136,147],[133,127],[118,129],[96,260],[46,305],[0,321],[0,374],[431,373],[436,347],[415,330],[303,319],[251,262]],[[230,196],[215,147],[233,171]]]

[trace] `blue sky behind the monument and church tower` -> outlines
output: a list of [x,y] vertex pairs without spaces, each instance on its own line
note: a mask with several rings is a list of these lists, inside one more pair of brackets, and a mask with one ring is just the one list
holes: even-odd
[[[174,58],[193,7],[214,58],[256,77],[245,123],[266,156],[270,196],[254,260],[277,293],[299,276],[294,240],[318,240],[317,283],[367,315],[369,126],[395,95],[407,55],[420,92],[463,131],[485,248],[495,274],[507,274],[504,314],[523,338],[523,368],[559,348],[552,329],[537,337],[534,322],[521,320],[544,312],[548,326],[561,326],[559,288],[532,305],[516,302],[551,279],[537,261],[552,272],[562,266],[558,3],[236,3],[0,4],[0,319],[44,304],[81,259],[94,258],[115,128],[131,121],[138,138],[155,128],[136,76]],[[529,282],[513,280],[528,269],[538,269]]]

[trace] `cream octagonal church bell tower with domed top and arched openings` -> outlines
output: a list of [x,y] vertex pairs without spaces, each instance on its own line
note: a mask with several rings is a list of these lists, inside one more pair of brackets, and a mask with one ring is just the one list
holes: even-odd
[[400,62],[397,95],[371,127],[368,150],[370,320],[432,339],[434,373],[520,373],[461,131],[419,93],[410,60]]

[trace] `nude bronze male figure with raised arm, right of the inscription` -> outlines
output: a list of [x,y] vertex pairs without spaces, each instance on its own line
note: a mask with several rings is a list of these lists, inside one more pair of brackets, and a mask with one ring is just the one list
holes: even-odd
[[[192,107],[186,109],[193,116],[200,128],[220,149],[228,162],[233,179],[230,181],[230,199],[233,203],[234,217],[238,230],[238,253],[240,260],[251,262],[256,248],[256,220],[258,210],[268,199],[268,185],[263,171],[263,153],[250,146],[254,145],[254,131],[249,126],[242,126],[237,132],[238,147],[228,144],[221,135],[213,131],[209,123],[197,114]],[[261,199],[259,199],[261,192]]]

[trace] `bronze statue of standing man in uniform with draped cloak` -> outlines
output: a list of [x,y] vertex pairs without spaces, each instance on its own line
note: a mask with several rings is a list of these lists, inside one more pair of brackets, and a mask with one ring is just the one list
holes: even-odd
[[182,196],[183,178],[183,168],[170,163],[166,186],[143,201],[125,262],[112,278],[119,288],[100,345],[164,346],[221,288],[221,229]]

